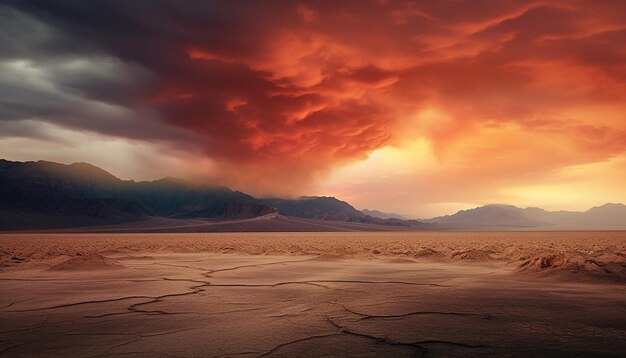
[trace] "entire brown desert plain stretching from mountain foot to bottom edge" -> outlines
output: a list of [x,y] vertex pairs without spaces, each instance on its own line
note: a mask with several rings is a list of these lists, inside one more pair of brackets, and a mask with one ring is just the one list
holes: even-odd
[[0,235],[0,356],[623,357],[626,233]]

